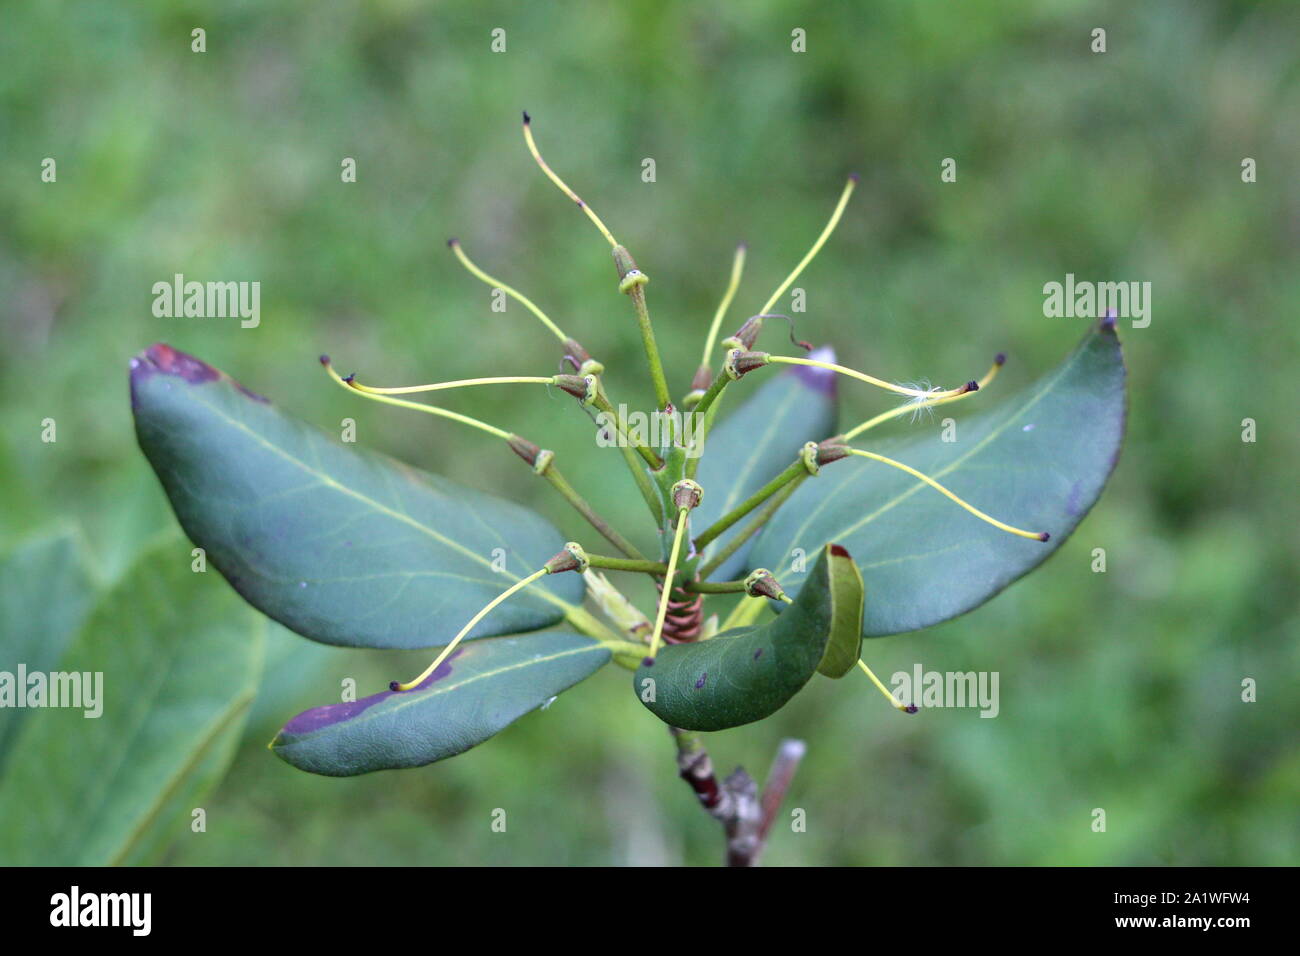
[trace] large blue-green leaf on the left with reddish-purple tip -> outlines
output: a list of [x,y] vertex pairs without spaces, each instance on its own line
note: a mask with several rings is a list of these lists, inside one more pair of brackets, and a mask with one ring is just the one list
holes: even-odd
[[[131,360],[131,406],[190,538],[254,607],[312,640],[446,644],[564,545],[528,509],[343,445],[165,345]],[[468,637],[554,624],[581,597],[578,575],[547,575]]]

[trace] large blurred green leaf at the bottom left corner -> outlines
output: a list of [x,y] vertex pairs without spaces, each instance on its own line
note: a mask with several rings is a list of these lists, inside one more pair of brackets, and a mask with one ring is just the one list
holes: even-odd
[[0,779],[0,862],[134,862],[188,835],[238,743],[263,627],[190,570],[179,540],[135,563],[58,662],[82,675],[81,706],[34,711],[18,732]]

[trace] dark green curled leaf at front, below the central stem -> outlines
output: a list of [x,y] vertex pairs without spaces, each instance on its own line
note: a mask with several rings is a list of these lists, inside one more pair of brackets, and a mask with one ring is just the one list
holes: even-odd
[[642,662],[632,684],[641,702],[664,723],[701,731],[738,727],[785,706],[826,654],[835,618],[831,566],[852,563],[831,551],[822,550],[807,587],[775,620],[670,644],[653,665]]

